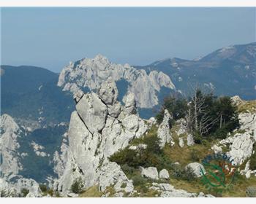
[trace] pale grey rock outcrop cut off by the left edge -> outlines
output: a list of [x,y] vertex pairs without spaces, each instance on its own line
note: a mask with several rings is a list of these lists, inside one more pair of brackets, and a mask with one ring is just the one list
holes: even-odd
[[0,177],[15,176],[22,169],[18,160],[18,138],[20,137],[20,127],[7,114],[1,115],[0,122]]

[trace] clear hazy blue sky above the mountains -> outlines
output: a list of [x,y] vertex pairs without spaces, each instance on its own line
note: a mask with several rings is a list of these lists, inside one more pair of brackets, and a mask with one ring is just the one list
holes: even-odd
[[1,64],[59,72],[69,61],[99,53],[141,66],[194,59],[256,42],[255,13],[253,7],[1,8]]

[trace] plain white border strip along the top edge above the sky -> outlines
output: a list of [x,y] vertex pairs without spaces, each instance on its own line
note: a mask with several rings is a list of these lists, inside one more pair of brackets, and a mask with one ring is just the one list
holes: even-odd
[[255,0],[1,0],[0,7],[256,7]]

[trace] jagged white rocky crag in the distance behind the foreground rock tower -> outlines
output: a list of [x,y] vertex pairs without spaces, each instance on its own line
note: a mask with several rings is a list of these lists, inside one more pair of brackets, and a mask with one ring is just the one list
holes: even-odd
[[[145,70],[133,68],[128,64],[122,66],[110,63],[102,55],[97,55],[94,59],[84,58],[75,63],[69,63],[59,75],[58,86],[63,87],[64,91],[68,90],[72,93],[77,93],[79,90],[83,90],[84,87],[88,87],[89,90],[97,90],[109,77],[115,82],[121,80],[128,82],[127,94],[135,94],[135,99],[140,108],[151,108],[157,105],[157,93],[161,87],[175,90],[170,77],[162,71],[151,71],[147,74]],[[103,85],[103,87],[108,86]],[[99,95],[105,93],[105,91],[108,93],[108,90],[100,90]],[[105,99],[110,100],[106,93]],[[112,93],[108,94],[111,95]]]

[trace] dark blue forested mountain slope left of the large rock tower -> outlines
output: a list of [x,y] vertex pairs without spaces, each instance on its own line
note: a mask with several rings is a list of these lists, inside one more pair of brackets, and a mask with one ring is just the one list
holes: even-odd
[[72,95],[57,87],[59,74],[31,66],[1,66],[1,114],[39,127],[69,121]]

